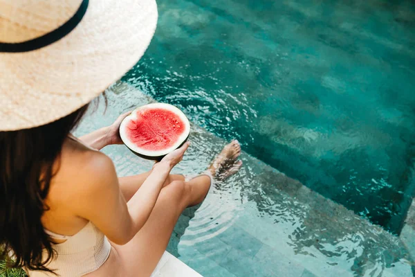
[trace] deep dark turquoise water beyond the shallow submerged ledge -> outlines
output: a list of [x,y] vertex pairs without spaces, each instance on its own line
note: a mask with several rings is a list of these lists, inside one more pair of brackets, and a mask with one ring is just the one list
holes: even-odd
[[415,186],[412,1],[158,7],[156,35],[124,81],[400,233]]

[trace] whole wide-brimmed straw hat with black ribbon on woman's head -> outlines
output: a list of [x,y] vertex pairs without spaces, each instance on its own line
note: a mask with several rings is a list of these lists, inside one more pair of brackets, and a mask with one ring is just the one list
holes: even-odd
[[136,64],[156,22],[155,0],[0,0],[0,131],[91,101]]

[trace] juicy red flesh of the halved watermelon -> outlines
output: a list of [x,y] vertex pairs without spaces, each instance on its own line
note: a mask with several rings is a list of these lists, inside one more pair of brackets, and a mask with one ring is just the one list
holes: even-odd
[[127,123],[126,135],[131,143],[149,151],[171,148],[185,132],[183,120],[163,108],[136,111],[136,117]]

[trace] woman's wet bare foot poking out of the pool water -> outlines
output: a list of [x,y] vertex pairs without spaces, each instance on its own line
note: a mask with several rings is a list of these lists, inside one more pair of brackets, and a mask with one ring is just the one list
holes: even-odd
[[236,139],[225,145],[209,167],[212,176],[224,180],[238,172],[242,166],[242,161],[237,161],[239,154],[241,154],[241,145]]

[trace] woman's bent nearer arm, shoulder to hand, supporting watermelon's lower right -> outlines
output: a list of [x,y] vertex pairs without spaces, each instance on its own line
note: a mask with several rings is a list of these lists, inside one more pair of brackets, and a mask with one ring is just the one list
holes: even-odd
[[185,143],[154,166],[128,203],[122,196],[111,159],[95,152],[99,157],[82,170],[80,181],[85,186],[78,190],[79,199],[73,204],[75,214],[90,220],[112,242],[129,242],[147,222],[169,172],[181,161],[187,147]]

